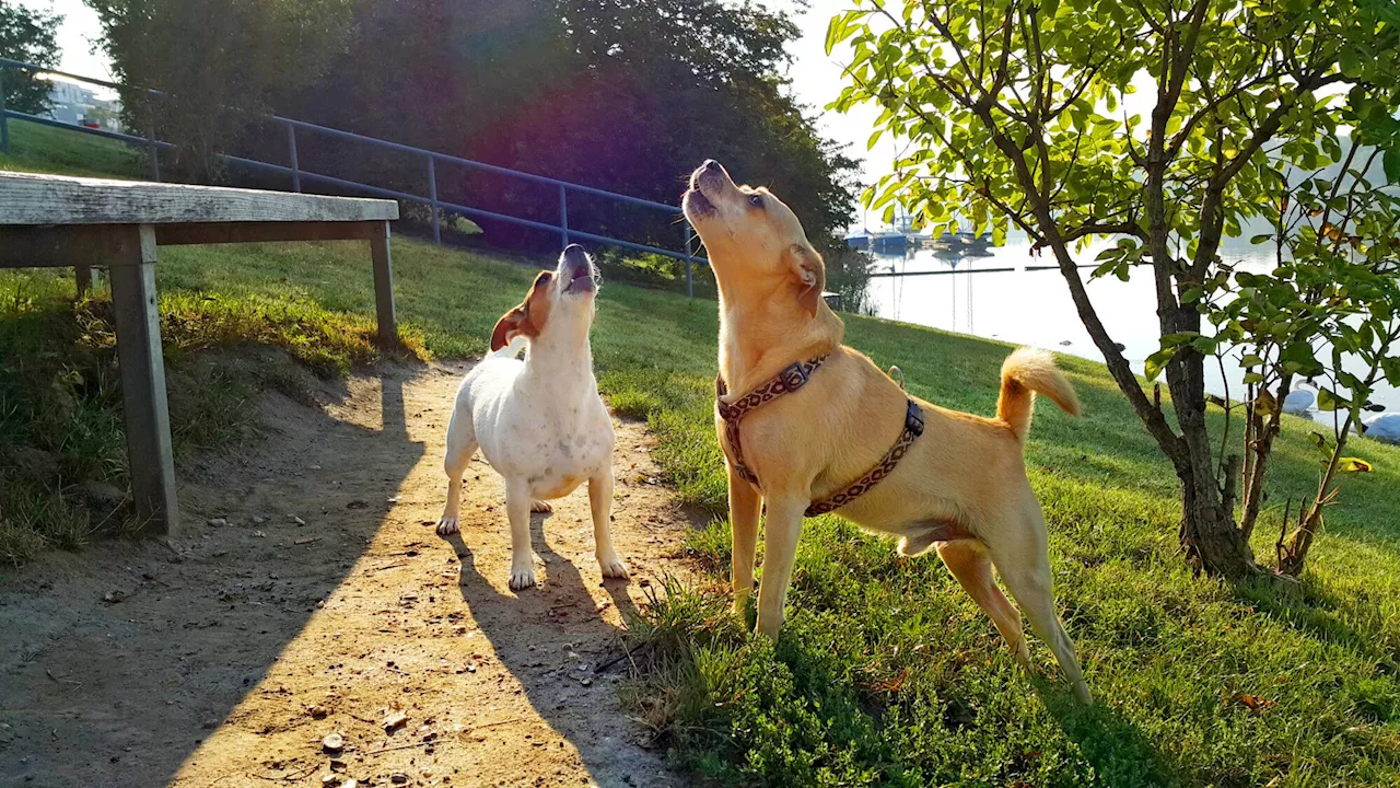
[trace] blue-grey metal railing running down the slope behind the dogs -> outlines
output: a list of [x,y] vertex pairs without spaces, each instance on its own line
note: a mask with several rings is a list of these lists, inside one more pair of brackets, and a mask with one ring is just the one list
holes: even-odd
[[[106,130],[106,129],[92,129],[92,128],[88,128],[88,126],[80,126],[80,125],[74,125],[74,123],[64,123],[62,121],[55,121],[53,118],[42,118],[42,116],[38,116],[38,115],[31,115],[28,112],[18,112],[15,109],[8,109],[4,105],[4,74],[6,74],[7,69],[24,69],[24,70],[29,70],[29,72],[35,72],[35,73],[52,74],[52,76],[57,76],[57,77],[77,80],[77,81],[85,83],[85,84],[95,84],[95,86],[101,86],[101,87],[106,87],[106,88],[112,88],[112,90],[123,90],[123,91],[129,90],[126,86],[122,86],[122,84],[118,84],[118,83],[109,83],[109,81],[104,81],[104,80],[95,80],[95,79],[91,79],[91,77],[84,77],[81,74],[70,74],[70,73],[66,73],[66,72],[57,72],[57,70],[53,70],[53,69],[45,69],[42,66],[35,66],[32,63],[24,63],[24,62],[20,62],[20,60],[10,60],[10,59],[6,59],[6,57],[0,57],[0,153],[6,153],[6,154],[10,153],[10,126],[8,126],[8,119],[14,118],[14,119],[18,119],[18,121],[28,121],[31,123],[42,123],[45,126],[53,126],[53,128],[59,128],[59,129],[66,129],[66,130],[73,130],[73,132],[81,132],[81,133],[85,133],[85,135],[92,135],[92,136],[99,136],[99,137],[106,137],[106,139],[115,139],[115,140],[120,140],[120,142],[125,142],[125,143],[129,143],[129,144],[133,144],[133,146],[143,147],[143,149],[146,149],[147,158],[150,160],[150,174],[151,174],[151,178],[155,179],[155,181],[161,179],[160,153],[162,150],[171,150],[175,146],[172,143],[155,139],[155,125],[154,125],[153,114],[150,114],[150,112],[147,114],[147,116],[150,119],[147,121],[146,136],[144,137],[139,137],[139,136],[133,136],[133,135],[127,135],[127,133],[122,133],[122,132],[111,132],[111,130]],[[165,97],[165,94],[161,93],[161,91],[158,91],[158,90],[144,88],[144,93],[146,93],[146,98],[148,101]],[[598,188],[594,188],[594,186],[585,186],[582,184],[573,184],[573,182],[568,182],[568,181],[560,181],[557,178],[547,178],[545,175],[535,175],[532,172],[521,172],[519,170],[510,170],[510,168],[505,168],[505,167],[497,167],[494,164],[486,164],[483,161],[473,161],[470,158],[462,158],[459,156],[449,156],[447,153],[438,153],[438,151],[427,150],[427,149],[423,149],[423,147],[414,147],[414,146],[409,146],[409,144],[400,144],[400,143],[396,143],[396,142],[382,140],[382,139],[378,139],[378,137],[370,137],[370,136],[365,136],[365,135],[357,135],[357,133],[346,132],[346,130],[342,130],[342,129],[333,129],[330,126],[321,126],[321,125],[316,125],[316,123],[308,123],[305,121],[295,121],[293,118],[283,118],[280,115],[258,115],[258,116],[262,118],[262,119],[265,119],[265,121],[269,121],[269,122],[272,122],[274,125],[283,126],[287,130],[287,137],[286,137],[287,139],[287,160],[288,160],[290,167],[281,165],[281,164],[272,164],[272,163],[267,163],[267,161],[258,161],[255,158],[246,158],[246,157],[241,157],[241,156],[231,156],[231,154],[220,154],[218,156],[220,161],[224,161],[227,164],[237,164],[237,165],[246,167],[246,168],[251,168],[251,170],[260,170],[260,171],[265,171],[265,172],[279,172],[279,174],[290,175],[291,177],[291,188],[295,192],[300,192],[302,189],[302,184],[304,182],[319,182],[319,184],[325,184],[325,185],[339,186],[339,188],[343,188],[343,189],[364,192],[364,193],[374,195],[374,196],[384,196],[384,198],[399,199],[399,201],[412,202],[412,203],[416,203],[416,205],[428,206],[430,215],[431,215],[431,226],[433,226],[433,243],[435,243],[435,244],[441,244],[442,243],[441,217],[442,217],[442,212],[444,210],[456,212],[456,213],[461,213],[461,215],[472,217],[472,219],[490,219],[490,220],[496,220],[496,222],[504,222],[507,224],[515,224],[515,226],[519,226],[519,227],[529,227],[529,229],[533,229],[533,230],[553,231],[553,233],[559,233],[560,247],[567,247],[574,240],[584,240],[584,241],[594,241],[594,243],[598,243],[598,244],[606,244],[606,245],[619,247],[619,248],[631,250],[631,251],[658,254],[658,255],[664,255],[664,257],[669,257],[669,258],[673,258],[673,259],[683,261],[686,264],[686,294],[687,296],[694,296],[694,272],[693,272],[694,262],[696,261],[707,262],[704,257],[700,257],[700,255],[697,255],[694,252],[694,240],[696,240],[696,236],[694,236],[694,230],[690,227],[689,222],[683,222],[682,220],[682,223],[680,223],[680,226],[682,226],[682,244],[683,244],[682,248],[685,251],[666,250],[666,248],[655,247],[655,245],[651,245],[651,244],[640,244],[640,243],[627,241],[627,240],[623,240],[623,238],[613,238],[613,237],[602,236],[602,234],[598,234],[598,233],[588,233],[588,231],[584,231],[584,230],[571,229],[568,226],[568,193],[570,192],[575,192],[575,193],[581,193],[581,195],[599,196],[599,198],[617,201],[617,202],[622,202],[624,205],[633,205],[633,206],[648,209],[648,210],[665,212],[666,215],[673,216],[673,217],[683,217],[683,215],[680,213],[680,209],[676,208],[676,206],[673,206],[673,205],[666,205],[664,202],[654,202],[654,201],[648,201],[648,199],[634,198],[634,196],[623,195],[623,193],[617,193],[617,192],[609,192],[606,189],[598,189]],[[416,156],[416,157],[421,157],[421,161],[423,161],[423,165],[424,165],[424,185],[426,185],[427,193],[426,195],[416,195],[416,193],[412,193],[412,192],[400,192],[400,191],[395,191],[395,189],[386,189],[386,188],[382,188],[382,186],[374,186],[374,185],[370,185],[370,184],[363,184],[363,182],[358,182],[358,181],[350,181],[350,179],[346,179],[346,178],[336,178],[333,175],[325,175],[325,174],[321,174],[321,172],[311,172],[311,171],[302,170],[301,165],[300,165],[300,157],[298,157],[298,151],[297,151],[297,132],[298,130],[316,132],[316,133],[328,135],[328,136],[335,137],[335,139],[342,139],[342,140],[349,140],[349,142],[358,142],[358,143],[370,144],[370,146],[374,146],[374,147],[378,147],[378,149],[382,149],[382,150],[393,150],[393,151],[407,153],[407,154],[412,154],[412,156]],[[511,177],[511,178],[518,178],[521,181],[525,181],[525,182],[532,182],[532,184],[539,184],[539,185],[546,185],[546,186],[554,186],[554,189],[557,189],[557,195],[559,195],[559,224],[550,224],[549,222],[538,222],[538,220],[533,220],[533,219],[524,219],[524,217],[519,217],[519,216],[510,216],[507,213],[500,213],[500,212],[494,212],[494,210],[486,210],[486,209],[480,209],[480,208],[472,208],[472,206],[468,206],[468,205],[459,205],[459,203],[455,203],[455,202],[448,202],[448,201],[440,199],[438,198],[438,177],[437,177],[437,164],[438,163],[458,164],[458,165],[462,165],[462,167],[466,167],[466,168],[470,168],[470,170],[476,170],[476,171],[480,171],[480,172],[491,172],[491,174],[496,174],[496,175],[505,175],[505,177]]]

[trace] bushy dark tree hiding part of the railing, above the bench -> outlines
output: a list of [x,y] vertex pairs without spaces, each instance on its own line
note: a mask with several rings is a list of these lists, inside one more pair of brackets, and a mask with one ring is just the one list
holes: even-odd
[[102,21],[112,70],[130,86],[126,126],[154,123],[200,181],[218,179],[217,154],[272,97],[319,79],[354,31],[351,0],[84,1]]

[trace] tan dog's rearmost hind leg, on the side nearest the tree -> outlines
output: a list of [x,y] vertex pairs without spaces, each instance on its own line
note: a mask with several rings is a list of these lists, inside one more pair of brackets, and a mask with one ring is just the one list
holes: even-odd
[[[1026,495],[1030,495],[1029,491]],[[1049,537],[1040,505],[1032,499],[1021,508],[1019,517],[1015,515],[1012,517],[995,527],[980,529],[980,536],[991,552],[991,562],[1001,573],[1001,582],[1021,606],[1021,613],[1030,620],[1036,635],[1054,652],[1060,669],[1070,679],[1075,698],[1088,705],[1089,687],[1084,683],[1079,659],[1074,655],[1074,642],[1070,641],[1064,624],[1054,611]]]

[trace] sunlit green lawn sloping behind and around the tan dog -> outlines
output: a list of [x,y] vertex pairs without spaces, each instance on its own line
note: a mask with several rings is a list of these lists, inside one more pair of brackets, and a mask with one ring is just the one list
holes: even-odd
[[[438,356],[484,349],[490,327],[533,273],[416,241],[396,240],[393,251],[400,320]],[[363,244],[172,248],[157,271],[162,307],[193,310],[183,337],[206,337],[195,327],[227,320],[242,327],[231,337],[301,352],[328,372],[356,363],[349,348],[358,344],[322,359],[319,348],[337,338],[315,325],[364,331],[372,314]],[[27,317],[35,310],[67,320],[64,287],[52,273],[0,278],[0,306],[21,289],[32,300],[0,314],[8,327],[0,339],[31,337],[17,321],[39,320]],[[220,317],[230,313],[241,317]],[[878,320],[847,322],[848,342],[882,366],[899,365],[913,393],[993,412],[1008,346]],[[263,332],[265,324],[281,328]],[[172,366],[197,362],[210,346],[174,339],[178,321],[168,331]],[[715,332],[713,301],[623,285],[603,287],[594,331],[599,383],[615,409],[647,419],[679,496],[717,517],[687,543],[714,572],[711,582],[672,585],[634,623],[644,673],[626,698],[696,782],[1400,784],[1400,450],[1354,444],[1376,473],[1347,480],[1299,587],[1196,578],[1176,547],[1170,468],[1105,370],[1063,359],[1088,415],[1075,421],[1042,407],[1026,458],[1050,523],[1058,606],[1098,700],[1082,709],[1037,641],[1037,674],[1015,666],[937,558],[897,558],[889,541],[836,517],[808,522],[780,641],[748,634],[727,611],[722,589]],[[36,352],[52,353],[62,369],[90,346],[101,349],[97,334]],[[0,359],[10,358],[0,346]],[[11,416],[0,435],[24,423]],[[108,453],[80,454],[119,461],[101,437],[112,425],[84,429]],[[1306,432],[1288,421],[1274,509],[1254,544],[1263,557],[1273,552],[1278,505],[1315,484]],[[28,501],[32,512],[43,499]],[[1240,695],[1264,702],[1252,709]]]

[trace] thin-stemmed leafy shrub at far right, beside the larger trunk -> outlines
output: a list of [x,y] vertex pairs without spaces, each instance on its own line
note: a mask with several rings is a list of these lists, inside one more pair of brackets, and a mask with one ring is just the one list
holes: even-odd
[[[1246,370],[1242,402],[1221,402],[1226,419],[1245,412],[1240,529],[1253,531],[1266,498],[1266,468],[1280,432],[1281,405],[1299,376],[1316,386],[1317,409],[1333,415],[1330,435],[1312,433],[1320,467],[1317,492],[1298,505],[1298,524],[1275,544],[1278,568],[1299,575],[1322,530],[1323,509],[1336,503],[1344,474],[1371,471],[1345,454],[1361,412],[1387,373],[1400,379],[1400,196],[1383,186],[1358,126],[1341,163],[1288,172],[1278,202],[1266,206],[1277,266],[1270,273],[1233,272],[1232,282],[1205,287],[1201,303],[1224,344]],[[1365,153],[1364,153],[1365,151]],[[1379,177],[1376,182],[1373,177]],[[1229,282],[1229,283],[1226,283]],[[1229,421],[1226,421],[1228,437]],[[1222,439],[1222,453],[1224,453]],[[1232,456],[1231,456],[1232,457]],[[1229,461],[1226,458],[1225,461]],[[1228,478],[1233,478],[1231,473]],[[1231,499],[1232,496],[1226,496]]]

